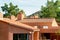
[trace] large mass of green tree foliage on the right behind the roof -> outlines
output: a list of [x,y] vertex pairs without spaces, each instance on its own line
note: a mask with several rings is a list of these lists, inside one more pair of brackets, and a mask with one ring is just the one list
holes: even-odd
[[47,1],[47,5],[41,7],[41,18],[56,18],[60,21],[60,1]]

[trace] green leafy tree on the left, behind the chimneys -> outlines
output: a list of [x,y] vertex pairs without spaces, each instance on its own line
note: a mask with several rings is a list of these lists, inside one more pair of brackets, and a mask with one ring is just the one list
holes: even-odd
[[16,16],[19,12],[18,6],[14,6],[12,3],[7,5],[6,3],[4,6],[1,6],[2,11],[5,12],[4,17],[10,17],[11,15]]

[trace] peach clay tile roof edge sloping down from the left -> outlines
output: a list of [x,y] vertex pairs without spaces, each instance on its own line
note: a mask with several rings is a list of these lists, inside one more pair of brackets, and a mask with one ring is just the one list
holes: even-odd
[[6,22],[6,23],[9,23],[9,24],[12,24],[12,25],[16,25],[16,26],[19,26],[19,27],[22,27],[22,28],[26,28],[26,29],[29,29],[29,30],[33,30],[33,31],[38,31],[39,30],[39,29],[36,29],[32,26],[20,23],[19,21],[10,20],[8,18],[4,18],[3,20],[0,20],[0,21]]

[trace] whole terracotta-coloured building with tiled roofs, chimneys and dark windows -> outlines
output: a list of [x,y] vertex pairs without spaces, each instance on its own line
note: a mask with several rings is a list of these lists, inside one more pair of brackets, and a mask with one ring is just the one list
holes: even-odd
[[19,13],[9,19],[0,15],[0,40],[60,40],[59,29],[54,18],[25,18]]

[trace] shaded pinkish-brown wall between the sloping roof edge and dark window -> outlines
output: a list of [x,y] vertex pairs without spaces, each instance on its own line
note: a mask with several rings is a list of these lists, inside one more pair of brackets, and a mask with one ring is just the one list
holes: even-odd
[[24,28],[20,28],[20,27],[17,27],[17,26],[9,26],[9,32],[12,32],[12,33],[29,33],[31,32],[30,30],[27,30],[27,29],[24,29]]

